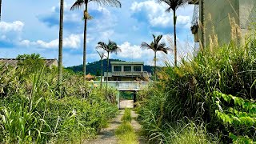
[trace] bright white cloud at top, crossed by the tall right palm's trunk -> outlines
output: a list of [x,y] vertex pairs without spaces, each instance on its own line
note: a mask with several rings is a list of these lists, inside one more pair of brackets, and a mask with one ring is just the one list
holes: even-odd
[[[145,2],[134,2],[130,7],[133,13],[139,13],[142,10],[146,10],[147,18],[151,26],[167,27],[174,23],[173,13],[166,13],[167,6],[165,4],[159,4],[153,0]],[[177,26],[190,26],[191,15],[178,14]]]

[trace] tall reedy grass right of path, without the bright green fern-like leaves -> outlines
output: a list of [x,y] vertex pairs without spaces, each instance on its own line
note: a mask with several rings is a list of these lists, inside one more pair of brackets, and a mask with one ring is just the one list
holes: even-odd
[[[166,67],[160,72],[161,82],[138,93],[142,126],[152,141],[166,143],[162,139],[168,135],[168,125],[175,127],[173,125],[181,120],[190,123],[198,118],[206,123],[208,133],[218,136],[224,143],[232,142],[230,131],[256,141],[254,128],[242,132],[233,126],[223,125],[215,113],[218,106],[214,99],[214,91],[219,91],[255,101],[255,35],[247,38],[244,46],[230,42],[199,50],[196,56],[182,59],[177,67],[166,62]],[[232,102],[222,104],[234,107]],[[201,126],[202,122],[195,122]]]

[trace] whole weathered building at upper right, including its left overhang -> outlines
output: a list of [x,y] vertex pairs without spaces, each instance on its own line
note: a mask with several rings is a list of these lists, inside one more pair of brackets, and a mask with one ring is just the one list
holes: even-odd
[[[201,42],[202,0],[189,3],[194,4],[191,26],[194,42]],[[244,38],[252,22],[256,22],[256,0],[204,0],[204,7],[206,46],[214,35],[219,44],[230,42],[234,36]]]

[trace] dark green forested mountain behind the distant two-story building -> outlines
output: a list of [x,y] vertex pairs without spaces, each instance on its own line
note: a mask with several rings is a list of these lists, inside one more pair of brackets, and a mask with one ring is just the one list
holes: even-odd
[[[110,62],[125,62],[120,59],[110,59]],[[86,74],[93,74],[93,75],[100,75],[101,74],[101,65],[102,62],[96,61],[96,62],[91,62],[86,65]],[[107,60],[103,59],[103,71],[106,72],[106,66],[107,66]],[[82,73],[82,65],[79,66],[70,66],[66,67],[68,70],[73,70],[75,73]],[[154,66],[144,66],[143,67],[144,71],[147,71],[151,74],[153,74]],[[109,66],[109,71],[111,71],[111,64]]]

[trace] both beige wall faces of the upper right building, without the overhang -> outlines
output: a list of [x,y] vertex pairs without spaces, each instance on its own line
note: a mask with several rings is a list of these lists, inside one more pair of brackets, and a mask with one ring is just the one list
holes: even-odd
[[[238,26],[242,28],[242,33],[246,32],[253,19],[256,22],[256,0],[205,0],[205,10],[206,45],[209,45],[210,35],[214,33],[218,35],[219,44],[230,42],[229,14],[230,18],[234,18]],[[201,30],[198,33],[201,40]]]

